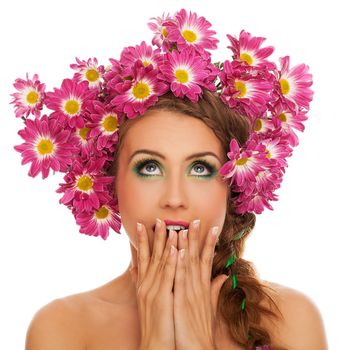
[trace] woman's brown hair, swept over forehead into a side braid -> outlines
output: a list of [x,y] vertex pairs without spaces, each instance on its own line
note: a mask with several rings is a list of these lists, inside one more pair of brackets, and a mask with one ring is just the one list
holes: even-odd
[[[247,117],[235,113],[221,101],[216,93],[208,90],[203,92],[198,103],[193,103],[187,98],[180,99],[169,92],[160,96],[157,103],[148,109],[148,111],[151,110],[173,111],[200,119],[214,131],[225,154],[230,151],[232,138],[242,146],[252,131],[252,125]],[[117,174],[119,154],[125,135],[137,119],[125,118],[120,123],[118,150],[115,152],[110,169],[111,175]],[[238,193],[230,190],[230,195],[227,197],[225,222],[215,247],[211,275],[215,278],[220,274],[228,274],[230,277],[235,274],[237,286],[235,289],[232,288],[231,278],[228,278],[222,286],[218,301],[218,316],[226,324],[232,339],[240,346],[250,350],[259,345],[270,345],[274,350],[285,350],[277,344],[271,344],[271,336],[262,325],[262,316],[265,316],[268,322],[273,321],[273,318],[277,320],[280,317],[283,318],[277,304],[268,293],[268,290],[274,290],[259,279],[252,262],[241,258],[245,240],[255,226],[256,217],[253,213],[244,215],[234,213],[232,200],[237,195]],[[247,233],[240,239],[234,239],[242,230],[246,230]],[[236,256],[235,261],[225,268],[233,254]],[[242,311],[241,304],[244,298],[246,298],[246,304]],[[269,307],[266,303],[262,304],[263,301],[267,301]],[[273,309],[276,309],[276,312]]]

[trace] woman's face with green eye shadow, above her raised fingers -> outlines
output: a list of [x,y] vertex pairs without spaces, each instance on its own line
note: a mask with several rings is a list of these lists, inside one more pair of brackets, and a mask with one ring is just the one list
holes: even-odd
[[[145,225],[152,249],[157,217],[200,219],[201,251],[212,226],[221,232],[226,214],[228,184],[219,174],[225,162],[220,141],[204,122],[180,113],[155,110],[139,118],[125,135],[116,177],[122,224],[131,244],[136,248],[137,222]],[[206,152],[214,155],[191,157]]]

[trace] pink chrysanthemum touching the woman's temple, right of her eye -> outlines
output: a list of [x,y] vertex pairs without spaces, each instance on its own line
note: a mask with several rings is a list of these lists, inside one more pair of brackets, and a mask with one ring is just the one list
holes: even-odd
[[244,189],[249,187],[251,182],[255,182],[257,172],[264,170],[264,166],[268,164],[261,147],[263,146],[256,146],[258,151],[246,149],[241,152],[237,141],[231,140],[230,152],[227,154],[230,161],[220,169],[220,175],[224,179],[231,178],[230,186],[235,183],[238,188]]

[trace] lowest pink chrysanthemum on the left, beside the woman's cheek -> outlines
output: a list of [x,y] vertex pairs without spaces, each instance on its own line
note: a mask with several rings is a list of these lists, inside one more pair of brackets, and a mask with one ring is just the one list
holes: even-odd
[[109,235],[110,227],[120,233],[121,219],[116,207],[116,203],[110,201],[89,213],[76,213],[75,219],[80,226],[79,232],[89,236],[101,236],[104,240]]

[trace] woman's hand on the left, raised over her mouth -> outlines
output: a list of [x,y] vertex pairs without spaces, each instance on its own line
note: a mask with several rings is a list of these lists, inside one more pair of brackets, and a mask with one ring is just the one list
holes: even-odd
[[147,232],[141,224],[141,231],[137,232],[137,272],[132,273],[141,329],[140,350],[175,350],[172,290],[178,253],[177,233],[172,232],[172,237],[169,234],[167,239],[166,225],[160,220],[153,234],[151,255]]

